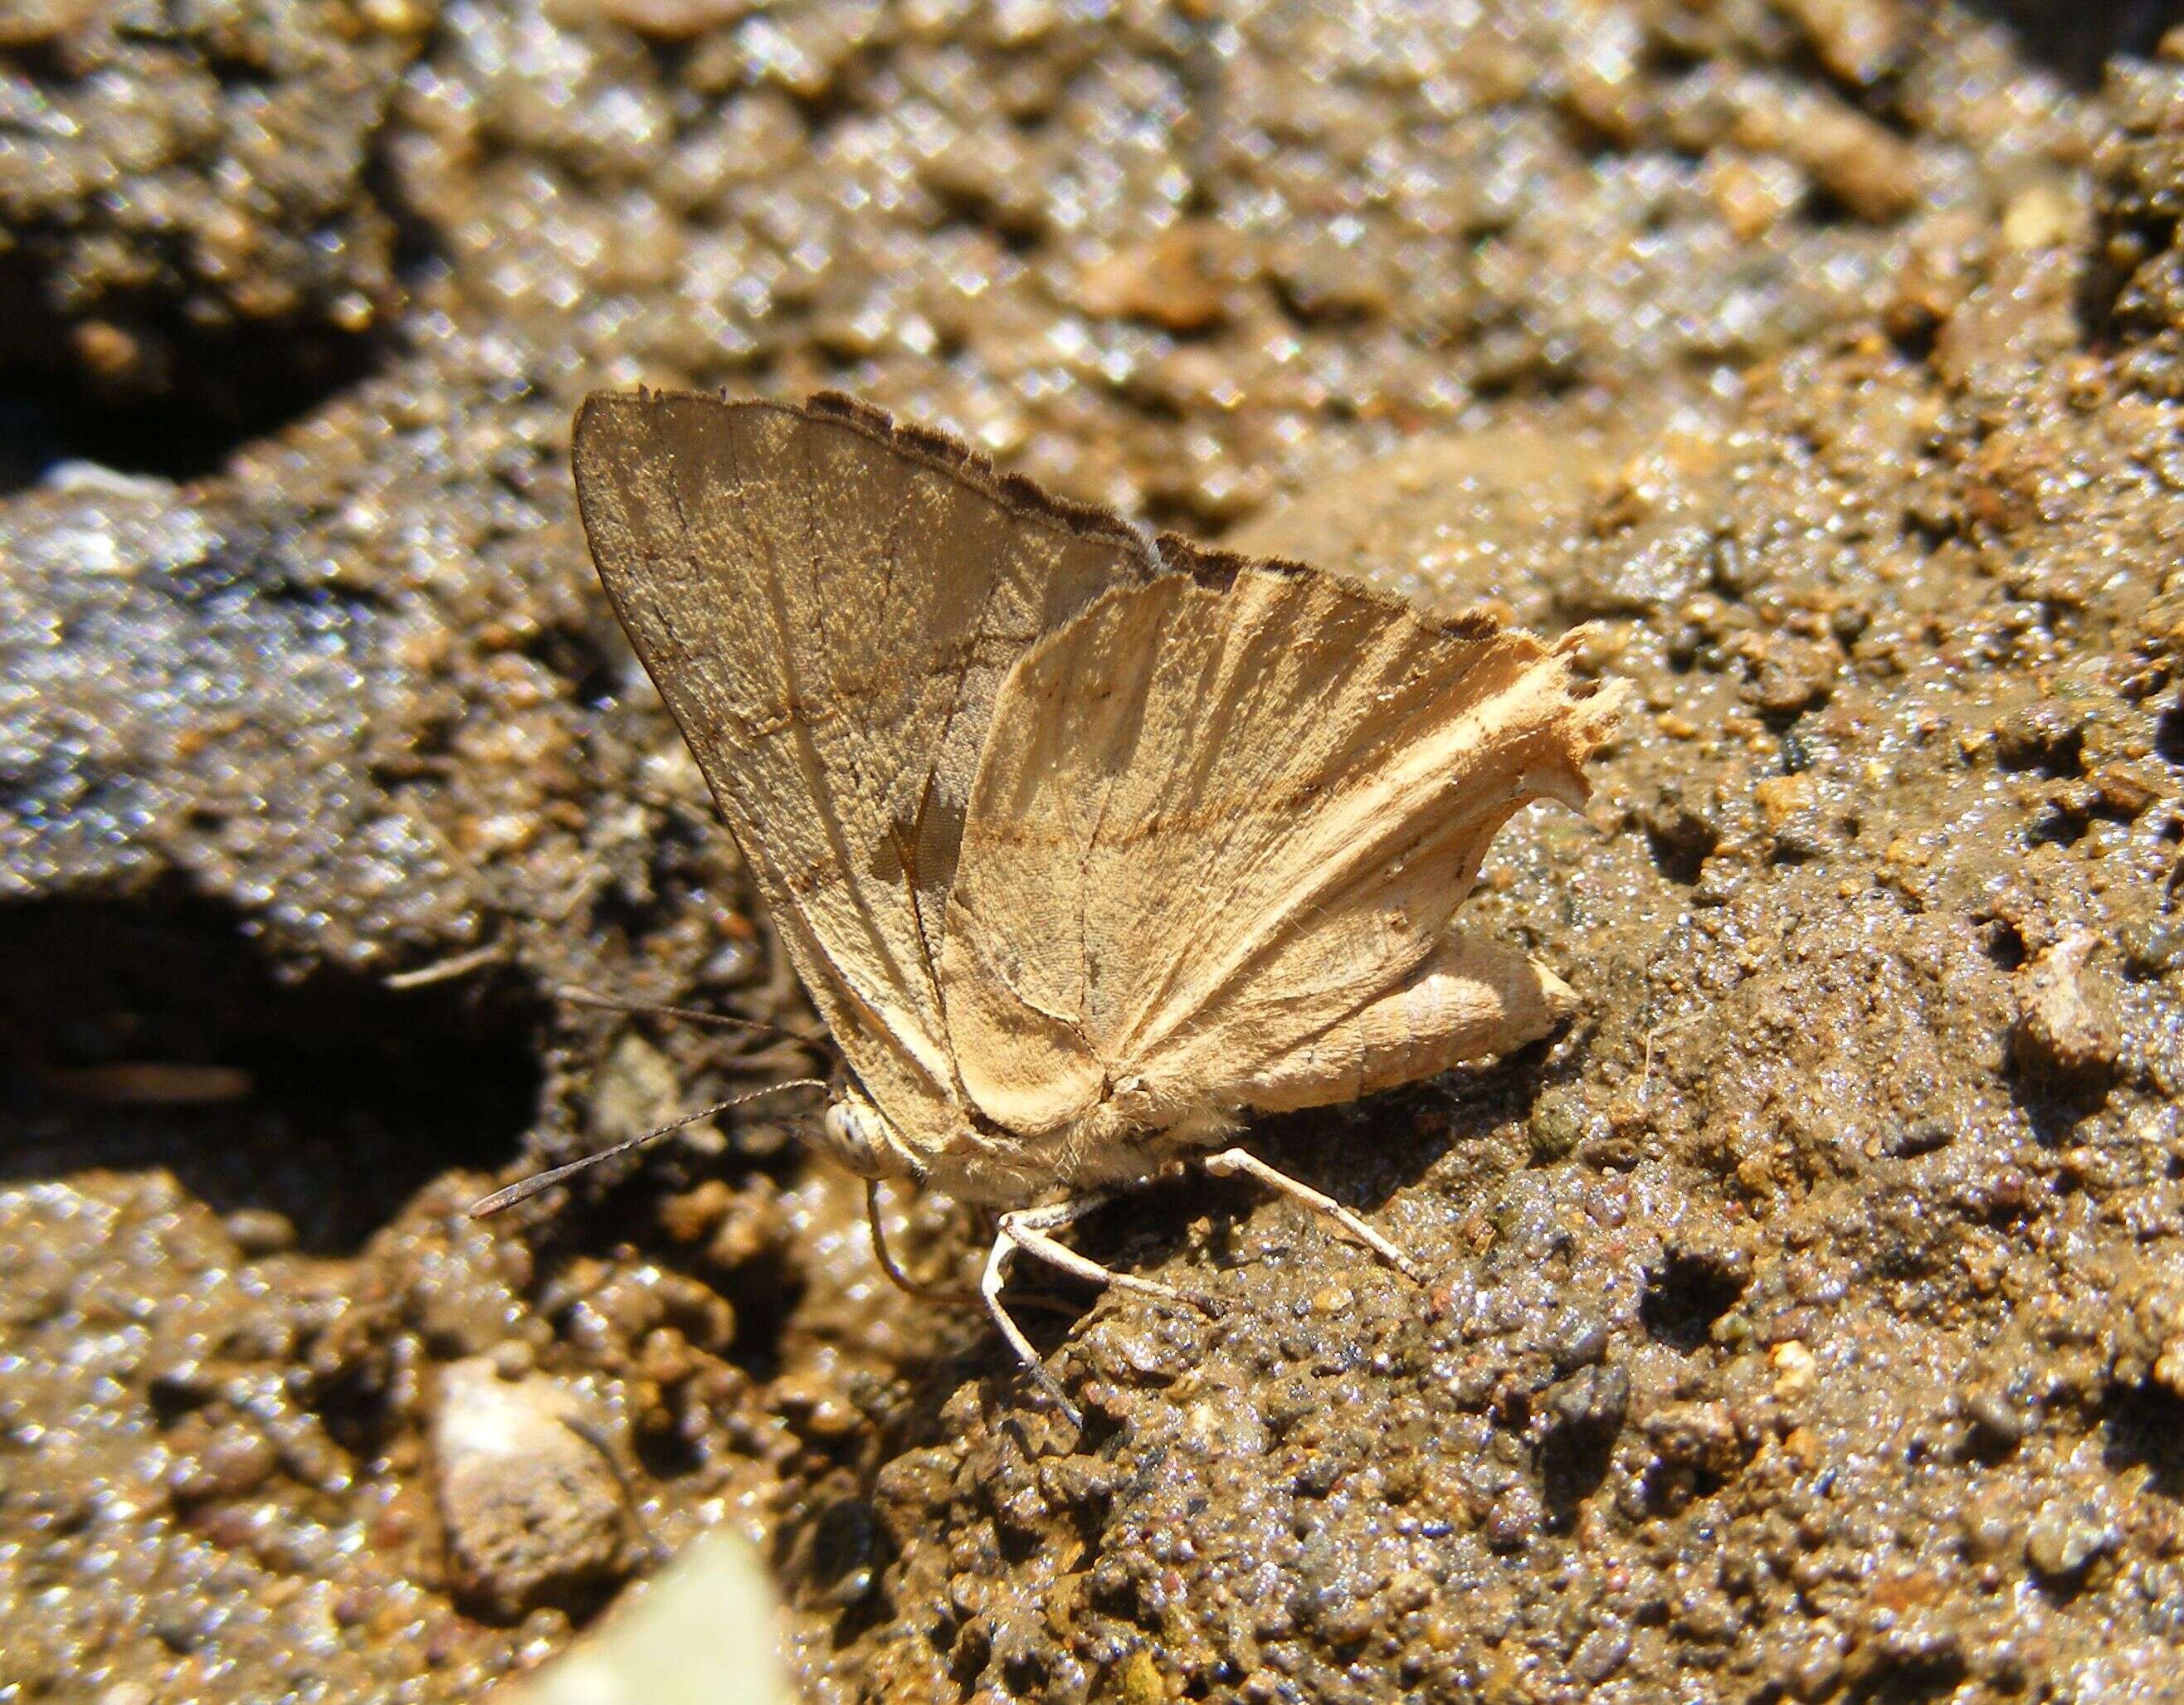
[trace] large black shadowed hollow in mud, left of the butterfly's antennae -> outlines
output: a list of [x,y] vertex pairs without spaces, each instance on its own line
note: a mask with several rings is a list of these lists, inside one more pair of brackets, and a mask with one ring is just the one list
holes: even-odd
[[157,891],[0,910],[0,1179],[166,1168],[214,1212],[354,1251],[422,1185],[522,1148],[535,991],[282,978],[232,908]]

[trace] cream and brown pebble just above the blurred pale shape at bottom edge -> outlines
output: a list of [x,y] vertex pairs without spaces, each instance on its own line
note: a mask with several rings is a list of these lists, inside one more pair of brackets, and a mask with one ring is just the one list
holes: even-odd
[[518,1620],[627,1572],[622,1482],[579,1432],[583,1404],[546,1375],[472,1356],[441,1373],[432,1419],[439,1519],[456,1594]]

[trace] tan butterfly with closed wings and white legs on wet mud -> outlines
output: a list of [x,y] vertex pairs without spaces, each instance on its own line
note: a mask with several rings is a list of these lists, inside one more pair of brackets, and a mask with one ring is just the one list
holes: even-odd
[[1572,1009],[1450,921],[1511,812],[1586,801],[1616,694],[1577,635],[1153,537],[841,395],[594,393],[572,456],[841,1052],[819,1140],[998,1212],[981,1297],[1029,1369],[1007,1253],[1173,1299],[1053,1231],[1188,1155],[1415,1275],[1230,1137]]

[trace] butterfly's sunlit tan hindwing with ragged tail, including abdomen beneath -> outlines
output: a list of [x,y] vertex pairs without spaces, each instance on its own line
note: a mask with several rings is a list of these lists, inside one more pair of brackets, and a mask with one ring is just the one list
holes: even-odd
[[1614,710],[1570,642],[1171,559],[1192,572],[1101,598],[996,701],[941,965],[972,1100],[1024,1135],[1103,1100],[1162,1126],[1441,1070],[1494,1033],[1479,1002],[1544,1028],[1553,991],[1448,926],[1518,806],[1586,799]]

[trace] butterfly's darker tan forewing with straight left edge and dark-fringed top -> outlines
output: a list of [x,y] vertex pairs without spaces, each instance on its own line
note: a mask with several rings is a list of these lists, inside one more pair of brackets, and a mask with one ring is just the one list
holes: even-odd
[[994,694],[1158,563],[841,397],[598,393],[592,559],[858,1081],[915,1146],[959,1124],[935,967]]

